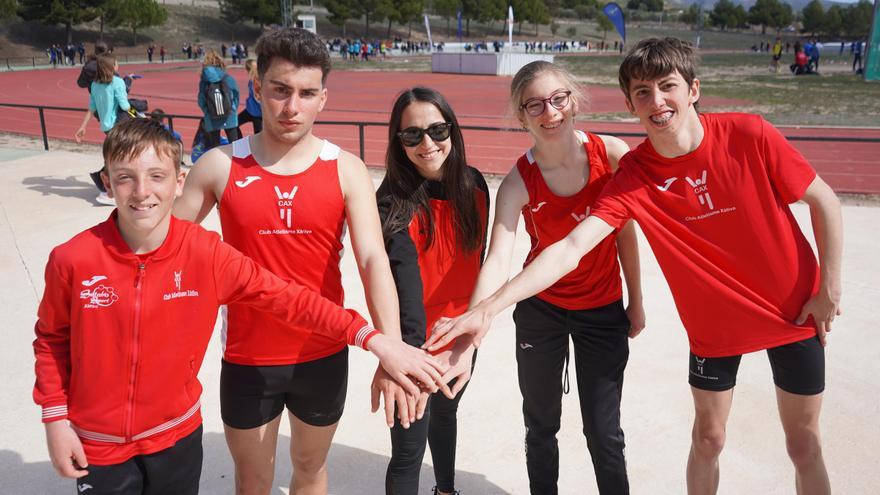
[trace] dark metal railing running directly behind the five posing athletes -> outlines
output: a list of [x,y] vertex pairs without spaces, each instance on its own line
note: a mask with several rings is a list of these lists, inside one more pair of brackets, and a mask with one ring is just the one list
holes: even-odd
[[[40,134],[43,138],[43,149],[49,151],[49,135],[46,132],[46,110],[58,110],[64,112],[78,112],[83,113],[87,109],[86,108],[77,108],[77,107],[57,107],[50,105],[26,105],[20,103],[3,103],[0,102],[0,107],[8,107],[8,108],[30,108],[37,111],[37,115],[40,119]],[[184,114],[165,114],[165,118],[168,120],[168,127],[173,131],[174,130],[174,120],[201,120],[203,117],[201,115],[184,115]],[[356,121],[340,121],[340,120],[318,120],[315,121],[315,125],[338,125],[338,126],[350,126],[357,127],[358,130],[358,151],[361,160],[364,159],[365,148],[364,148],[364,130],[367,127],[387,127],[388,124],[385,122],[356,122]],[[520,128],[510,128],[510,127],[489,127],[489,126],[474,126],[474,125],[463,125],[460,126],[462,130],[468,131],[490,131],[490,132],[526,132],[524,129]],[[617,137],[646,137],[647,135],[644,132],[617,132],[617,131],[597,131],[595,126],[593,128],[594,132],[601,132],[602,134],[609,134]],[[860,136],[785,136],[785,138],[789,141],[811,141],[811,142],[836,142],[836,143],[880,143],[880,138],[872,138],[872,137],[860,137]]]

